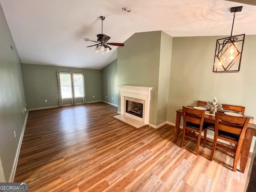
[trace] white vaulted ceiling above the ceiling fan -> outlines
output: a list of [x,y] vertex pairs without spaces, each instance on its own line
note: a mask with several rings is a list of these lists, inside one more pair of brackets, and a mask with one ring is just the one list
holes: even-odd
[[[117,58],[86,48],[101,33],[106,16],[108,42],[124,42],[135,32],[163,30],[171,36],[256,34],[256,6],[224,0],[0,0],[23,63],[101,69]],[[125,13],[122,7],[132,11]]]

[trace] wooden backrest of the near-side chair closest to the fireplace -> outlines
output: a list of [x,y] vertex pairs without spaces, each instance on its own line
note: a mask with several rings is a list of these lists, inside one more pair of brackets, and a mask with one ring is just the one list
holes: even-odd
[[204,123],[204,113],[205,110],[198,110],[188,107],[182,107],[183,112],[183,126],[186,126],[186,122],[191,122],[194,124],[200,125],[200,128],[202,128]]

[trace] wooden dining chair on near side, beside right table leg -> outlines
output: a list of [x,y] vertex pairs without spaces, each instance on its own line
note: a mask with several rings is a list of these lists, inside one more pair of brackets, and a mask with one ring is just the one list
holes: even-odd
[[[214,158],[216,148],[234,154],[233,171],[236,172],[237,161],[242,148],[242,142],[249,123],[249,118],[230,116],[220,112],[215,114],[215,130],[210,160]],[[217,144],[217,139],[221,139],[235,144],[228,147],[224,144]]]

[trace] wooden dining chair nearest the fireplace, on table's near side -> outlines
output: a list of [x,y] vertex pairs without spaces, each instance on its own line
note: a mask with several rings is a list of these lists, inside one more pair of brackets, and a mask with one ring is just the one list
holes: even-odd
[[[204,132],[204,140],[202,140],[204,147],[206,143],[206,134],[207,134],[208,124],[204,123],[205,110],[198,110],[198,109],[193,109],[193,108],[188,108],[183,106],[182,112],[183,112],[183,135],[182,135],[182,141],[181,141],[180,147],[183,148],[185,137],[195,140],[197,141],[196,155],[198,155],[202,132]],[[198,136],[190,135],[190,131],[197,132]]]

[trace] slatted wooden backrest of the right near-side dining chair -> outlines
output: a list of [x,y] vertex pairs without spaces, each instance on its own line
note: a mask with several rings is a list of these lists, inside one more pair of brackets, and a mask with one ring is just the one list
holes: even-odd
[[220,112],[215,114],[215,132],[222,130],[228,133],[244,136],[249,118],[226,115]]

